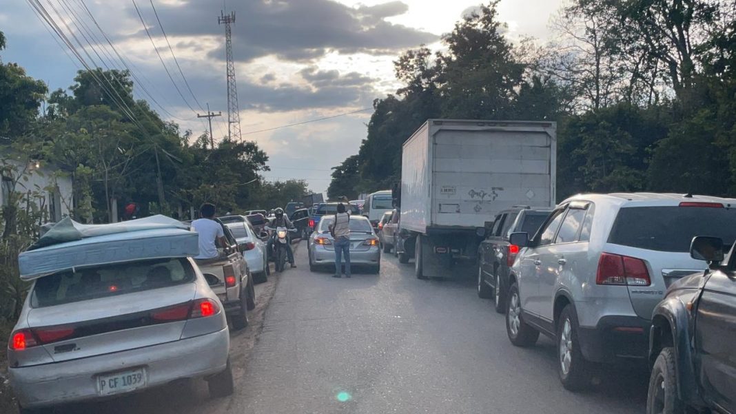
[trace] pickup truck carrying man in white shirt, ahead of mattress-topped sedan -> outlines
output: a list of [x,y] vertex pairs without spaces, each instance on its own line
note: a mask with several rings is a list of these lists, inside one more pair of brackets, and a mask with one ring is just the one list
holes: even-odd
[[244,329],[248,326],[248,311],[255,309],[255,288],[250,269],[243,256],[244,246],[238,246],[233,232],[215,219],[221,226],[227,239],[227,246],[221,246],[219,257],[213,259],[197,259],[199,270],[205,275],[213,292],[222,301],[227,320],[233,329]]

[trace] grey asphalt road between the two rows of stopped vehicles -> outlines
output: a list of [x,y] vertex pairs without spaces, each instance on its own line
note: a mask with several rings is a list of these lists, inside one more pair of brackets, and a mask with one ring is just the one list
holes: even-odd
[[551,341],[512,346],[503,316],[478,299],[471,280],[417,280],[392,255],[380,275],[333,279],[308,270],[303,244],[297,264],[261,285],[252,326],[233,338],[232,397],[209,399],[198,382],[63,412],[645,411],[645,372],[606,373],[586,393],[564,390]]

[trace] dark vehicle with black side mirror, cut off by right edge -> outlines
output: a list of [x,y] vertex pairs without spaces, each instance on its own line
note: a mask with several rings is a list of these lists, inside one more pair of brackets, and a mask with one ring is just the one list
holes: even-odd
[[736,413],[736,254],[697,237],[690,256],[710,268],[670,285],[654,308],[647,413]]

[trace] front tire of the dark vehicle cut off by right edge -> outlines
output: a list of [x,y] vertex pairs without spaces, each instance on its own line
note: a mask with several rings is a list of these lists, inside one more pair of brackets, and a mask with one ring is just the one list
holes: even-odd
[[649,392],[646,399],[647,414],[683,414],[685,405],[677,397],[677,371],[675,350],[671,347],[659,351],[659,357],[651,368]]

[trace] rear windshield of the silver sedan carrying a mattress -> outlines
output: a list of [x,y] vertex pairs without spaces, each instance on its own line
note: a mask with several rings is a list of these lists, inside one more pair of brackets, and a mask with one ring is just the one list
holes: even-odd
[[54,306],[193,281],[194,270],[185,258],[77,268],[38,279],[31,294],[31,306]]

